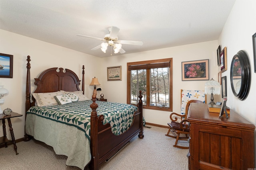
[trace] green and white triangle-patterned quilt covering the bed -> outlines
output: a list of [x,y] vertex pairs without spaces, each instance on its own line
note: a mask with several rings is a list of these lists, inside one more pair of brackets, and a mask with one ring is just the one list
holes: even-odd
[[[132,124],[133,113],[138,107],[129,104],[114,102],[96,101],[98,116],[104,115],[103,123],[110,123],[114,135],[124,133]],[[91,100],[66,104],[62,106],[33,106],[27,111],[28,114],[35,114],[53,121],[75,126],[85,132],[86,137],[90,140],[90,115],[92,109]]]

